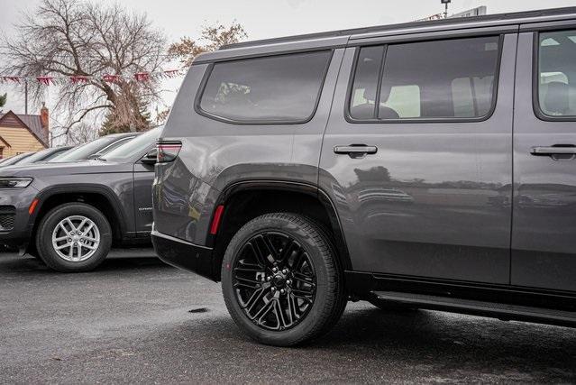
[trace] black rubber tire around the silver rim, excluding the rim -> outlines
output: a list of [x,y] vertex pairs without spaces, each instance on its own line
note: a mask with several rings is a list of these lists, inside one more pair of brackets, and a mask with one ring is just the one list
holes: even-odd
[[[52,245],[52,233],[63,219],[82,215],[96,225],[100,234],[100,242],[96,251],[85,261],[66,261],[61,258]],[[66,203],[54,207],[42,218],[36,230],[36,245],[38,254],[44,263],[53,270],[61,272],[80,272],[94,270],[105,260],[112,246],[112,230],[110,224],[96,207],[84,203]]]

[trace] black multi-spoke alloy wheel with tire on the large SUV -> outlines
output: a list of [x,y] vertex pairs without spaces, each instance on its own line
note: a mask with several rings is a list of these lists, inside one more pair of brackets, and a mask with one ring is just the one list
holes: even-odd
[[243,225],[222,263],[224,302],[242,332],[293,346],[327,333],[347,296],[332,238],[302,215],[271,213]]

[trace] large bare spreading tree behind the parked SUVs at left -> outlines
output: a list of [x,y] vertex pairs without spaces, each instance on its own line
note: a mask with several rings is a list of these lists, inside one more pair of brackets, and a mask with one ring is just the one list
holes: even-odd
[[[121,5],[82,0],[42,0],[24,14],[13,39],[3,41],[6,74],[34,77],[77,77],[59,85],[55,112],[66,115],[62,134],[87,120],[89,126],[106,116],[108,131],[148,128],[146,107],[158,100],[158,79],[137,82],[132,75],[159,70],[167,60],[166,37],[146,14]],[[113,75],[107,81],[104,75]],[[32,82],[32,97],[40,101],[43,85]]]

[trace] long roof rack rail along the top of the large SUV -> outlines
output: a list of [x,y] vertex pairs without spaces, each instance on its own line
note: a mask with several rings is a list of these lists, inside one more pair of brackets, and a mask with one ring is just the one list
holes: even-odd
[[340,31],[331,31],[331,32],[317,32],[317,33],[306,33],[294,36],[285,36],[279,37],[274,39],[262,39],[262,40],[255,40],[255,41],[242,41],[233,44],[226,44],[223,45],[220,50],[229,50],[233,48],[245,48],[245,47],[253,47],[258,45],[266,45],[266,44],[273,44],[273,43],[281,43],[281,42],[289,42],[289,41],[306,41],[312,39],[325,39],[325,38],[333,38],[333,37],[340,37],[340,36],[349,36],[361,33],[370,33],[370,32],[386,32],[391,30],[402,30],[405,28],[412,28],[412,27],[427,27],[427,26],[437,26],[437,25],[451,25],[451,24],[458,24],[458,23],[473,23],[473,22],[491,22],[491,21],[506,21],[506,20],[516,20],[516,19],[530,19],[542,16],[555,16],[555,15],[562,15],[562,14],[575,14],[576,15],[576,7],[564,7],[564,8],[552,8],[552,9],[542,9],[537,11],[525,11],[525,12],[515,12],[509,14],[487,14],[482,16],[471,16],[466,18],[453,18],[453,19],[441,19],[441,20],[433,20],[433,21],[424,21],[424,22],[410,22],[410,23],[398,23],[398,24],[387,24],[387,25],[378,25],[373,27],[365,27],[365,28],[352,28],[347,30],[340,30]]

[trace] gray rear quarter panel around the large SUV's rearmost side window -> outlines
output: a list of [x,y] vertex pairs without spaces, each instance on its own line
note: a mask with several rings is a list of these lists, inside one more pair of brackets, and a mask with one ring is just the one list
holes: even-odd
[[156,166],[154,229],[203,245],[215,202],[233,183],[315,184],[342,57],[343,49],[334,50],[315,115],[306,124],[228,124],[197,114],[197,89],[209,64],[192,66],[161,134],[181,141],[182,149],[177,160]]

